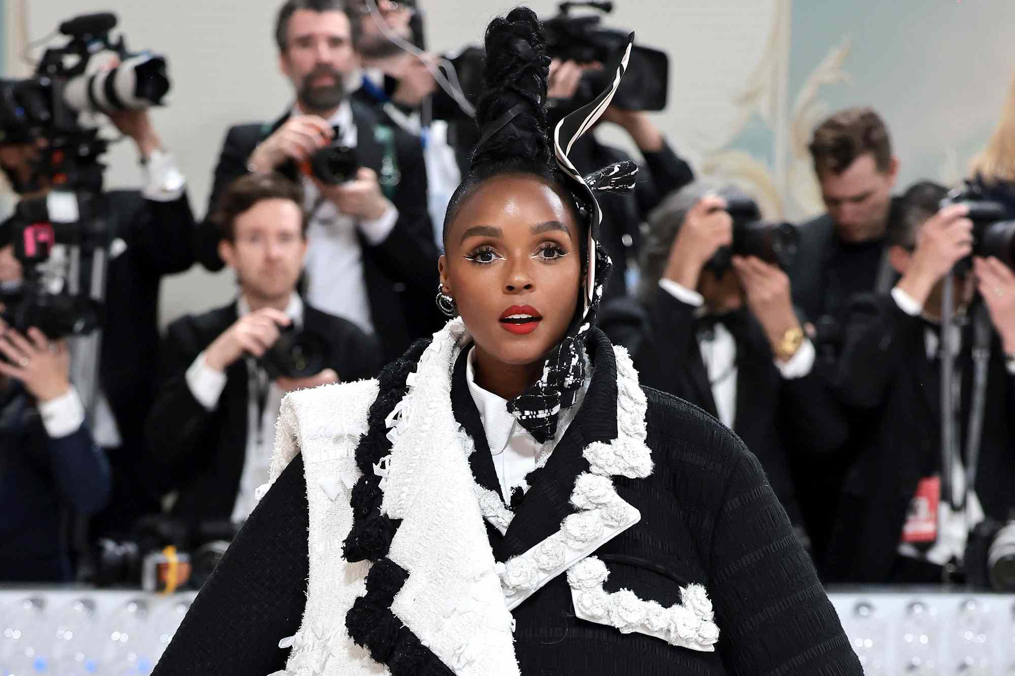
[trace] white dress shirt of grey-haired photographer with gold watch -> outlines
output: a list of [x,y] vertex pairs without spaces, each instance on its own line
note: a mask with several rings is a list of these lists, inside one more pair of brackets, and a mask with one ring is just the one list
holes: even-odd
[[[697,291],[665,277],[659,280],[659,285],[677,300],[703,312],[704,297]],[[737,419],[737,341],[721,322],[716,324],[710,339],[700,335],[696,338],[701,360],[708,374],[708,383],[712,385],[712,398],[716,402],[719,420],[732,428]],[[783,379],[792,381],[811,373],[816,355],[814,345],[810,340],[805,340],[788,361],[773,361]]]

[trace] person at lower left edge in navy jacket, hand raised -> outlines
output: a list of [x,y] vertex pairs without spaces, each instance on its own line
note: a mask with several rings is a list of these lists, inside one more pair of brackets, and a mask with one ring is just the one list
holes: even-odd
[[109,462],[69,371],[66,343],[0,321],[0,582],[73,580],[69,518],[109,501]]

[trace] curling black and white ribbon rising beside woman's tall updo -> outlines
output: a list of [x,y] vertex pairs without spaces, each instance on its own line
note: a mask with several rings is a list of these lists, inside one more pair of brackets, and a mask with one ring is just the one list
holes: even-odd
[[596,252],[599,225],[603,221],[603,212],[596,201],[595,191],[589,187],[589,184],[586,183],[582,175],[574,168],[574,164],[567,157],[567,153],[570,152],[574,142],[583,134],[592,129],[592,126],[602,117],[603,113],[609,107],[610,102],[613,100],[613,95],[617,92],[617,87],[620,86],[620,78],[624,76],[624,71],[627,69],[627,62],[630,59],[631,47],[633,45],[634,33],[632,32],[627,37],[627,48],[620,58],[620,63],[616,66],[610,86],[604,89],[591,104],[580,108],[558,122],[556,128],[553,130],[553,151],[556,155],[557,164],[573,184],[571,186],[573,192],[584,197],[585,201],[592,207],[592,212],[589,214],[589,261],[583,316],[588,316],[589,311],[594,310],[595,306],[598,305],[599,295],[602,294],[603,283],[606,281],[605,279],[597,279],[596,277],[598,267],[596,265]]

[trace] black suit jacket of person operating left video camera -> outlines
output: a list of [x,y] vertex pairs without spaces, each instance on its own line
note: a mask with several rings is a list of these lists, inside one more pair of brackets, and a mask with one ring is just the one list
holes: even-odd
[[186,193],[157,202],[138,191],[115,190],[107,199],[113,235],[127,248],[107,268],[98,377],[123,443],[107,449],[113,497],[93,525],[98,534],[116,534],[158,509],[155,496],[143,489],[138,465],[144,418],[155,399],[158,293],[165,275],[193,265],[195,221]]

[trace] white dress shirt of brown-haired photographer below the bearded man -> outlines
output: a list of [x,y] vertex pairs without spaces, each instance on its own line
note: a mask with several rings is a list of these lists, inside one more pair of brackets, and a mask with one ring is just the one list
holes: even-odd
[[[236,301],[236,314],[246,317],[251,313],[250,303],[243,295]],[[289,296],[285,307],[286,316],[298,328],[303,323],[303,302],[296,293]],[[246,521],[254,511],[257,500],[254,493],[257,487],[268,482],[268,468],[271,465],[272,447],[275,443],[275,422],[278,420],[278,410],[282,405],[285,393],[268,380],[263,368],[259,368],[253,357],[248,356],[247,374],[247,450],[244,459],[243,473],[240,475],[240,487],[236,501],[232,508],[231,520],[234,523]],[[191,394],[206,410],[213,411],[218,406],[218,399],[225,388],[226,376],[208,365],[204,351],[197,355],[187,369],[187,387]],[[258,401],[258,391],[267,387],[264,409]]]

